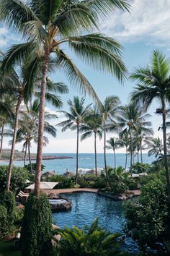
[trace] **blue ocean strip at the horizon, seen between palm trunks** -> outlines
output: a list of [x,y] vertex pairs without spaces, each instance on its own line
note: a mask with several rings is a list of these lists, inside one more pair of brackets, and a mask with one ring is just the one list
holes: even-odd
[[[70,156],[68,159],[53,159],[42,161],[45,166],[45,171],[55,171],[56,174],[63,174],[67,170],[76,172],[76,154],[75,153],[44,153],[44,155],[57,155],[57,156]],[[152,163],[155,161],[154,156],[148,157],[147,154],[143,154],[143,163]],[[135,162],[137,157],[135,157]],[[35,161],[32,161],[34,163]],[[28,162],[27,162],[28,163]],[[125,166],[125,154],[116,154],[117,166]],[[8,162],[1,162],[0,164],[8,164]],[[23,166],[23,161],[14,161],[15,166]],[[114,155],[107,153],[107,166],[114,166]],[[128,157],[128,166],[130,166],[130,157]],[[104,167],[104,155],[102,153],[97,154],[97,167]],[[79,154],[79,168],[91,169],[94,168],[94,153],[80,153]]]

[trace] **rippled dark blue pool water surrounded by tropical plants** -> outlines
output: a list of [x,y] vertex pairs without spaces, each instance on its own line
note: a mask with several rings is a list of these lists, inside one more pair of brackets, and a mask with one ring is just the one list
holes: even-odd
[[[125,202],[115,202],[109,198],[89,192],[76,192],[66,194],[72,201],[72,209],[67,212],[53,213],[54,223],[63,228],[64,226],[78,226],[79,228],[90,226],[94,218],[99,218],[99,225],[112,233],[121,233],[125,226],[123,205]],[[125,239],[123,249],[136,254],[138,244],[131,238]]]

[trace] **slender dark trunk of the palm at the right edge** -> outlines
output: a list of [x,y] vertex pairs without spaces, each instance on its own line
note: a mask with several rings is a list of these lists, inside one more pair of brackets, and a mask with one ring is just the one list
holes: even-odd
[[169,179],[169,167],[168,167],[168,159],[167,159],[167,148],[166,148],[166,108],[163,105],[162,108],[162,121],[163,121],[163,141],[164,141],[164,164],[166,170],[166,181],[169,193],[169,204],[170,204],[170,179]]

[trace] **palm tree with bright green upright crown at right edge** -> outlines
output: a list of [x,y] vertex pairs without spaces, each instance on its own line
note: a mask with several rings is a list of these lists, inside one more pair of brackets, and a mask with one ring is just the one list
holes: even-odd
[[166,148],[166,102],[169,101],[170,94],[169,72],[169,60],[166,59],[164,54],[154,50],[150,66],[136,68],[130,78],[138,81],[138,85],[133,90],[133,93],[131,93],[133,102],[143,104],[146,110],[151,106],[154,99],[161,104],[161,108],[158,108],[156,113],[162,116],[164,163],[170,203],[170,176]]

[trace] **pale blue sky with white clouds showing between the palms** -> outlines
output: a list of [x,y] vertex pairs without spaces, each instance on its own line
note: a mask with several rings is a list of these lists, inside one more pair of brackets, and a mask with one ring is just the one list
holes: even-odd
[[[100,24],[100,32],[115,38],[123,46],[123,61],[125,62],[128,72],[133,71],[134,67],[146,66],[149,64],[153,49],[158,48],[167,58],[170,56],[170,1],[169,0],[133,0],[131,1],[131,10],[128,12],[115,11]],[[6,48],[11,44],[19,43],[19,36],[11,33],[8,27],[1,25],[0,27],[0,46]],[[122,105],[128,103],[128,95],[135,86],[134,82],[126,81],[123,85],[120,84],[114,77],[109,74],[104,74],[91,67],[88,67],[84,62],[68,51],[71,59],[75,61],[81,72],[88,78],[94,90],[101,101],[108,95],[117,95],[120,97]],[[67,100],[73,98],[73,95],[83,97],[76,88],[69,85],[66,77],[54,72],[50,76],[55,82],[65,82],[68,85],[69,93],[63,95],[63,109],[68,110]],[[86,96],[86,104],[93,103],[93,100]],[[161,116],[156,116],[155,111],[158,103],[153,103],[149,108],[148,113],[151,114],[151,121],[155,137],[161,137],[161,131],[158,132],[158,127],[161,125]],[[50,113],[55,113],[56,109],[51,106],[46,106],[46,110]],[[58,120],[52,121],[55,125],[59,121],[64,120],[61,114],[58,115]],[[108,134],[109,137],[117,137],[114,134]],[[58,128],[57,137],[48,136],[49,144],[44,148],[44,153],[75,153],[76,152],[76,132],[67,130],[61,132]],[[4,148],[9,148],[8,140],[4,140]],[[36,152],[37,146],[32,144],[32,153]],[[16,149],[22,150],[22,145],[17,145]],[[98,153],[103,152],[103,141],[97,141]],[[94,140],[93,137],[80,142],[80,153],[93,153]],[[124,150],[117,150],[117,153],[123,153]],[[108,153],[111,153],[108,151]]]

